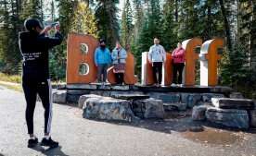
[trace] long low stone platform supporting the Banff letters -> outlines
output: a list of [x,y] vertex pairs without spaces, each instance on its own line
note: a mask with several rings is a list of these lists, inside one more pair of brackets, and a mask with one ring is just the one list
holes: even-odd
[[[117,94],[136,94],[147,95],[156,99],[164,99],[164,102],[177,102],[184,101],[184,99],[191,94],[191,96],[200,96],[199,99],[204,99],[205,95],[215,97],[215,94],[229,97],[229,94],[233,91],[229,87],[217,86],[217,87],[203,87],[203,86],[182,86],[182,87],[155,87],[155,86],[141,86],[141,85],[101,85],[99,83],[92,84],[62,84],[55,86],[56,91],[65,90],[67,102],[77,103],[79,97],[84,94],[96,94],[100,96],[113,97]],[[171,97],[169,97],[172,95]],[[183,98],[185,97],[185,98]],[[202,98],[201,98],[202,97]],[[194,103],[194,102],[193,102]],[[195,104],[195,103],[194,103]]]

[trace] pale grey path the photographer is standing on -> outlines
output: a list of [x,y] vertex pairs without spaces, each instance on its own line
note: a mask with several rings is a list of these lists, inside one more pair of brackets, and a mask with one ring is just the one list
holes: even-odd
[[[136,124],[86,120],[78,108],[54,104],[54,150],[27,148],[23,94],[0,86],[0,156],[256,156],[256,133],[193,123],[189,117]],[[43,137],[44,109],[37,103],[34,130]],[[196,127],[196,128],[195,128]],[[202,132],[191,132],[197,127]],[[189,131],[190,129],[190,131]]]

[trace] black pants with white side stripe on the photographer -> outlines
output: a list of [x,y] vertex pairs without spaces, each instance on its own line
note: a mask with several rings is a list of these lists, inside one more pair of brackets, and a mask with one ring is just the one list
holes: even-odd
[[37,94],[42,100],[45,108],[45,134],[49,134],[52,122],[52,88],[50,79],[36,81],[23,78],[22,87],[27,102],[26,122],[28,126],[28,134],[33,134],[33,113]]

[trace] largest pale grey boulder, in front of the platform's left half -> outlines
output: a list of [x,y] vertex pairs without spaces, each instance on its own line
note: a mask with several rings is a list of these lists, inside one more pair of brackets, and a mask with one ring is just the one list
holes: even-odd
[[83,106],[83,118],[125,122],[137,119],[129,101],[109,97],[87,99]]

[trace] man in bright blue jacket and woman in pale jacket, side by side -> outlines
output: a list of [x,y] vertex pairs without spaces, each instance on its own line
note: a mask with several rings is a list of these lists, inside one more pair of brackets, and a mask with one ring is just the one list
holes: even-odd
[[106,47],[106,41],[99,40],[99,47],[95,52],[95,63],[97,66],[97,81],[103,84],[107,79],[107,70],[109,65],[113,65],[113,72],[115,73],[116,83],[123,83],[123,76],[125,71],[127,53],[120,42],[116,42],[116,47],[110,53],[109,48]]

